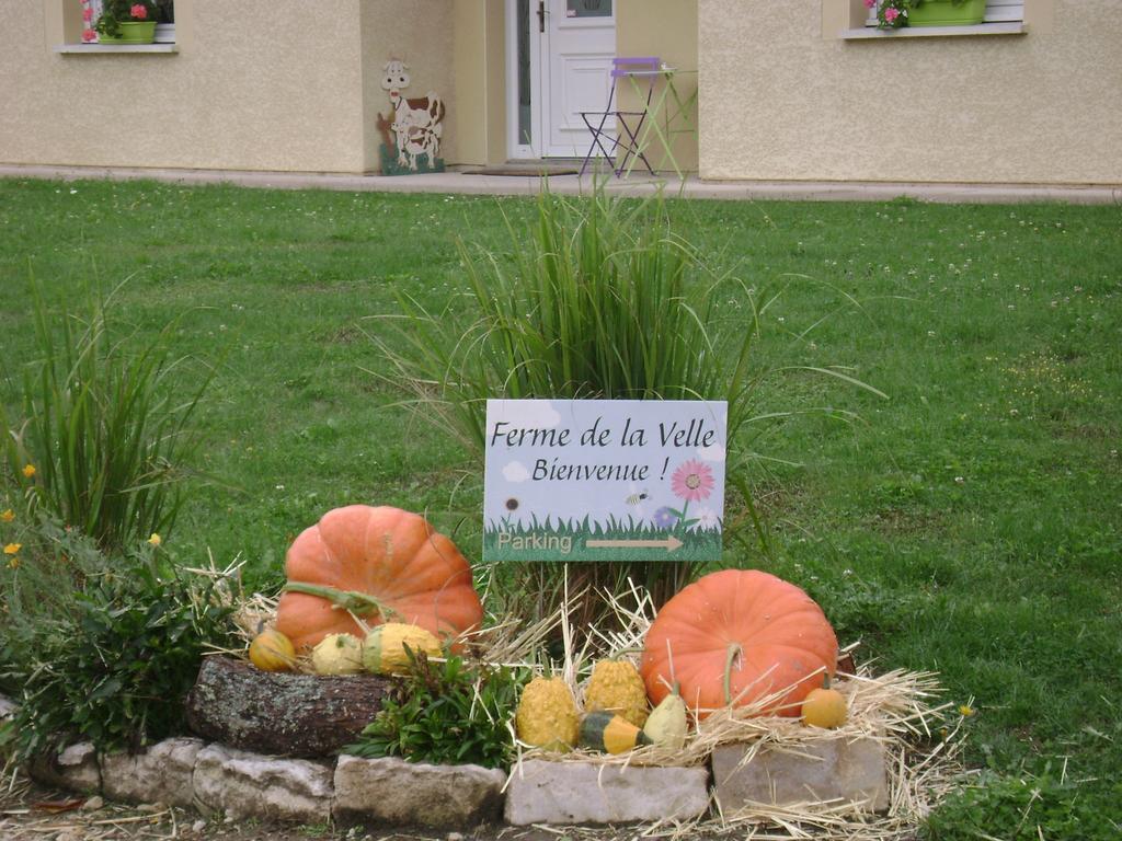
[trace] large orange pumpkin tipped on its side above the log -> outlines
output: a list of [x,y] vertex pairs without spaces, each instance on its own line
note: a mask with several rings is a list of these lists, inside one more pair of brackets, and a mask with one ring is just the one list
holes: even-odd
[[[369,626],[420,625],[440,638],[476,628],[482,606],[468,562],[417,514],[348,506],[304,529],[285,556],[276,628],[296,646]],[[350,612],[348,612],[350,611]]]

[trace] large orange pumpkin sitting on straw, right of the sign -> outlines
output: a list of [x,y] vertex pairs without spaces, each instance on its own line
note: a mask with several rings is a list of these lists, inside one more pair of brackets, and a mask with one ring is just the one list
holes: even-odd
[[663,606],[647,631],[640,672],[655,704],[674,681],[702,718],[790,687],[765,711],[794,717],[807,694],[834,674],[837,650],[826,614],[802,590],[764,572],[725,570]]

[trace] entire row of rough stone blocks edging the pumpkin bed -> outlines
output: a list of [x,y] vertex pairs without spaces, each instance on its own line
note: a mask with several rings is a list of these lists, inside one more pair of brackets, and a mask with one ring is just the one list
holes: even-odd
[[[0,702],[6,701],[0,696]],[[11,705],[0,704],[10,711]],[[10,712],[9,712],[10,714]],[[810,754],[773,746],[747,766],[745,746],[714,755],[721,808],[807,796],[888,805],[885,756],[874,740],[830,743]],[[130,803],[193,806],[236,819],[465,830],[498,823],[675,823],[710,807],[709,767],[640,767],[527,759],[512,770],[478,765],[424,765],[402,759],[289,759],[196,738],[166,739],[144,754],[99,755],[89,742],[30,763],[47,785]],[[767,794],[767,797],[763,795]]]

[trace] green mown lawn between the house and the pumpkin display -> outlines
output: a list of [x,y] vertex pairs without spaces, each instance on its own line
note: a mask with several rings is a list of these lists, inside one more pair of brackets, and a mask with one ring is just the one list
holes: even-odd
[[[350,502],[426,510],[477,558],[480,465],[395,405],[371,373],[367,316],[392,312],[395,290],[443,305],[454,238],[508,250],[503,213],[517,227],[531,210],[0,182],[3,368],[33,354],[31,275],[53,307],[126,281],[125,321],[148,332],[182,316],[177,350],[220,363],[200,418],[199,466],[215,481],[165,544],[182,562],[240,555],[252,583],[276,584],[296,533]],[[760,412],[798,413],[752,427],[775,560],[729,546],[727,563],[806,588],[883,667],[941,673],[977,711],[974,765],[1033,775],[1065,807],[1118,821],[1122,211],[695,202],[673,214],[715,266],[787,285],[761,359],[849,366],[889,395],[799,370],[769,380]],[[988,831],[1012,838],[1015,823]]]

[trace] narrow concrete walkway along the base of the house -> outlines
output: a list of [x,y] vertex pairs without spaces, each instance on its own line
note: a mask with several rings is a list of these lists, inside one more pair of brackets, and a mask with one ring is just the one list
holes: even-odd
[[[144,169],[77,166],[21,166],[0,164],[3,178],[61,181],[135,181],[150,178],[172,184],[234,184],[279,190],[338,190],[385,193],[460,193],[476,195],[533,195],[537,177],[476,175],[460,172],[427,175],[332,175],[323,173],[257,173],[219,169]],[[550,190],[564,195],[587,193],[592,176],[559,175]],[[880,184],[847,182],[712,182],[689,176],[684,182],[641,177],[608,178],[611,193],[649,195],[662,187],[666,195],[727,201],[888,202],[907,196],[922,202],[1005,204],[1060,202],[1066,204],[1122,204],[1122,185],[1049,186],[994,184]]]

